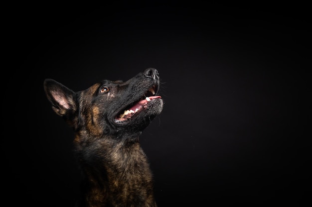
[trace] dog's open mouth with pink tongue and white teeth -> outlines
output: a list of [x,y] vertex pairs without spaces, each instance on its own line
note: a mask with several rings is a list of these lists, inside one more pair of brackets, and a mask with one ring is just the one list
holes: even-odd
[[124,122],[130,120],[135,114],[138,114],[147,109],[148,104],[153,99],[161,98],[156,96],[157,86],[154,85],[136,102],[128,105],[120,114],[115,117],[115,122]]

